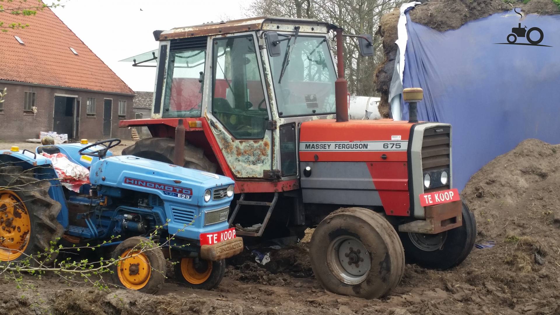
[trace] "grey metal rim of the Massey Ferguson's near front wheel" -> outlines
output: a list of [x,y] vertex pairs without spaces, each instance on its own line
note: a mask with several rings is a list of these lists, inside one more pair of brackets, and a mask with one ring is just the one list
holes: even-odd
[[350,285],[363,282],[371,270],[371,258],[366,247],[357,238],[347,235],[330,242],[327,264],[338,280]]

